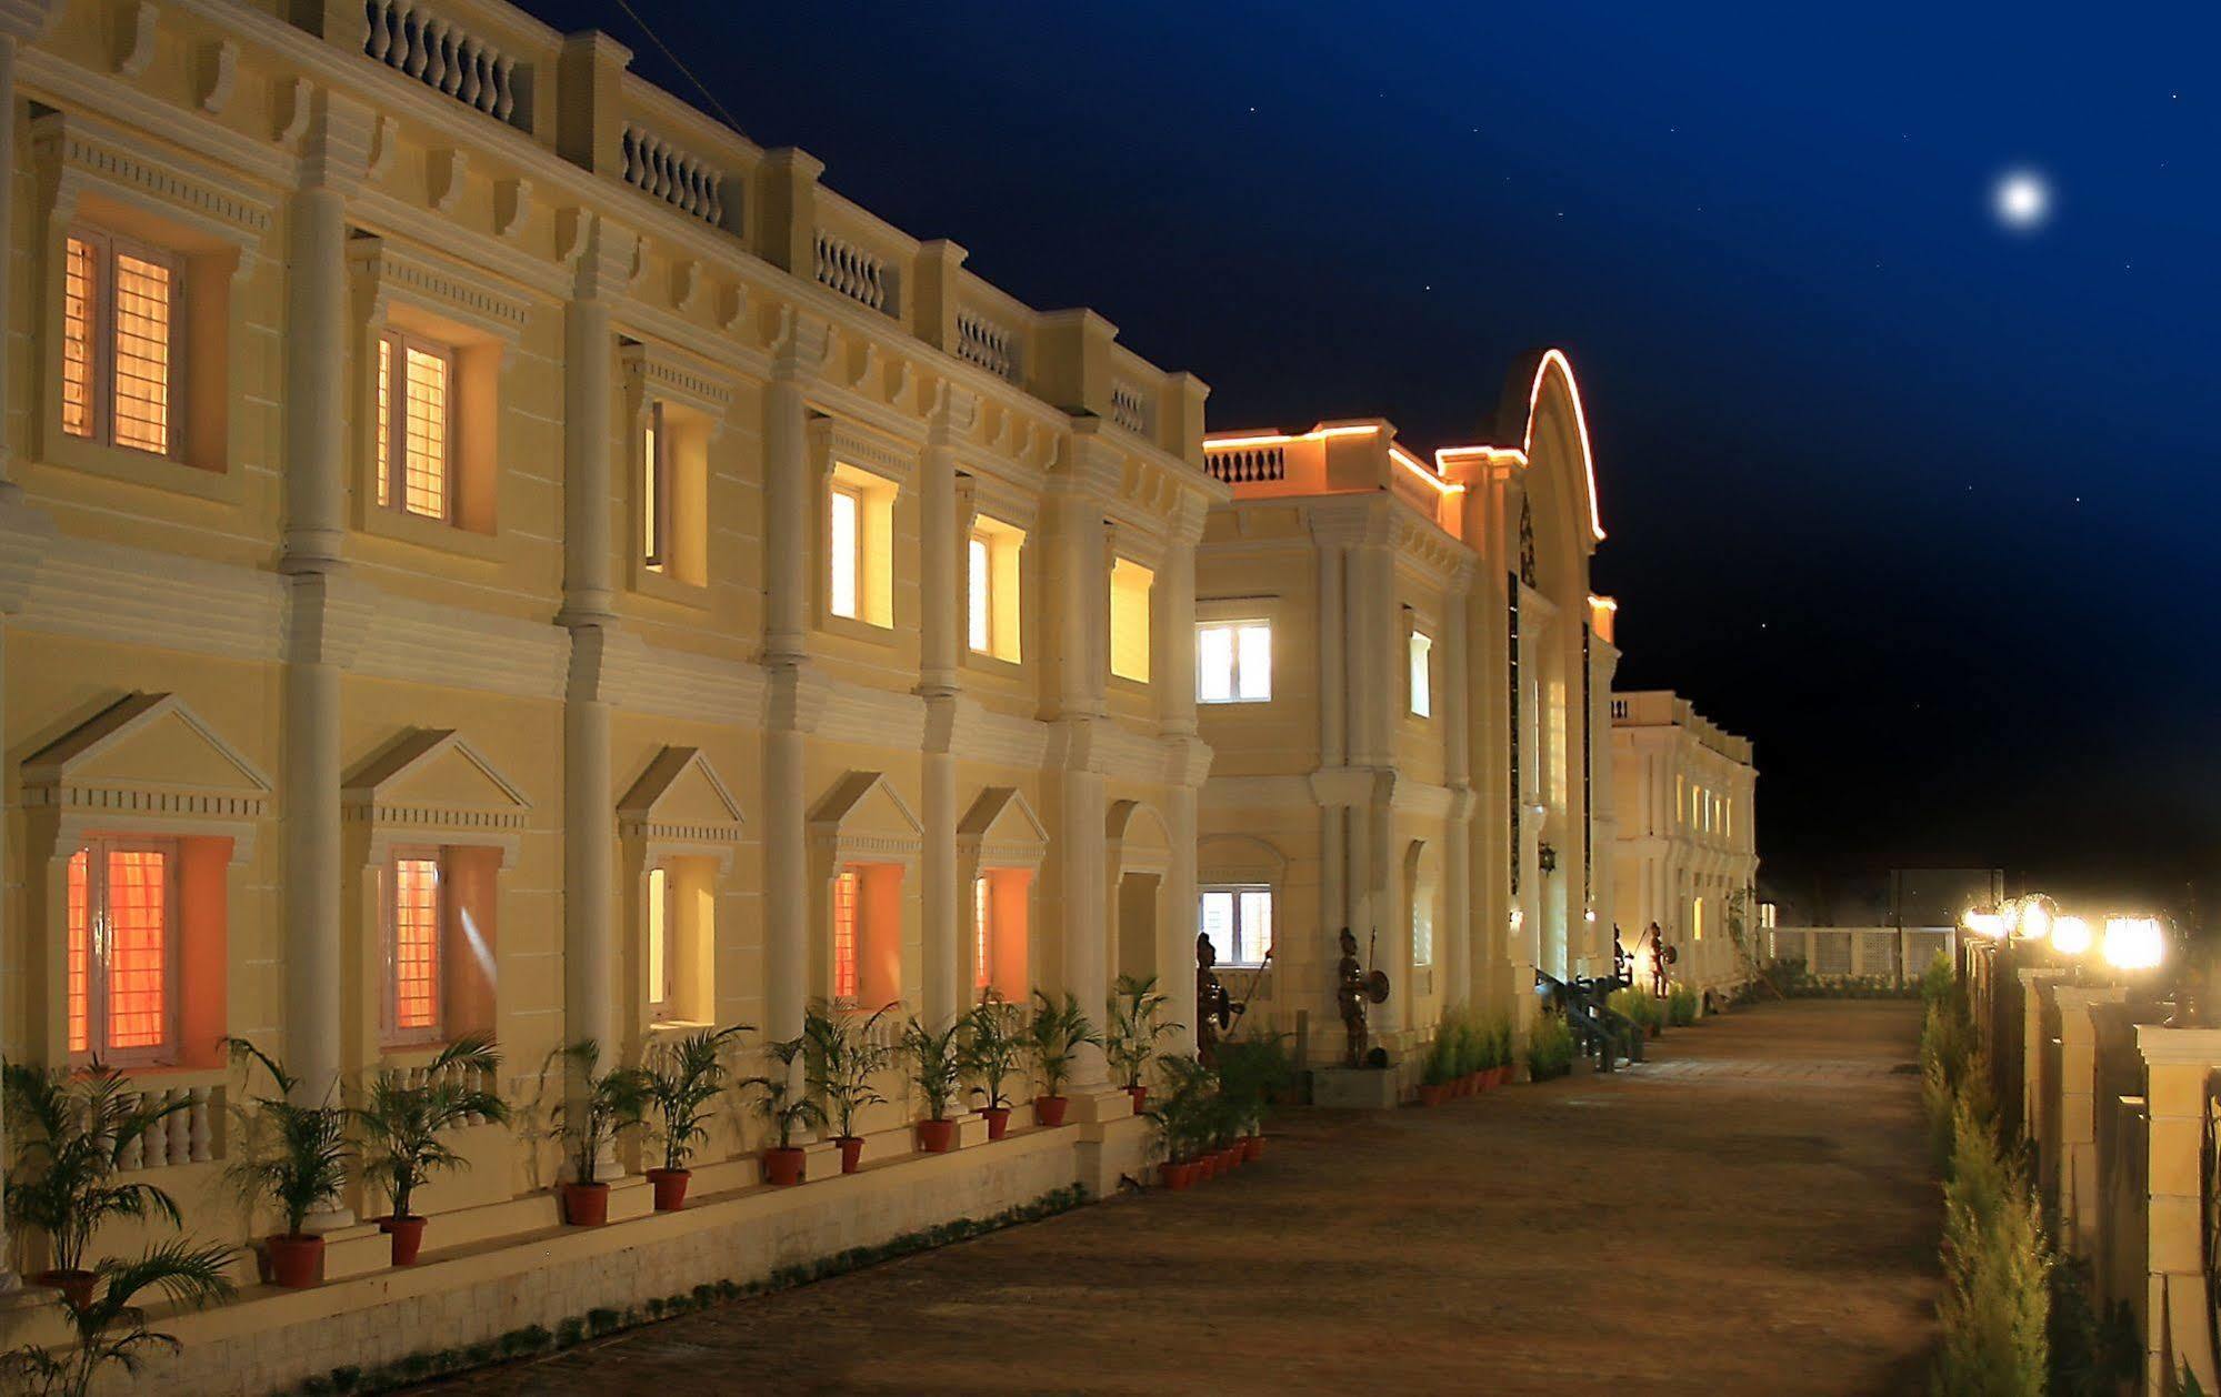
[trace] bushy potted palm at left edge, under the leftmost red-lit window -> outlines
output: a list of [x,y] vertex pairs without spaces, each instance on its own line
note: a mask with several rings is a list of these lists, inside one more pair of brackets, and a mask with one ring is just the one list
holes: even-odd
[[62,1073],[11,1062],[0,1068],[16,1159],[7,1173],[7,1215],[47,1235],[49,1268],[36,1282],[84,1308],[93,1273],[84,1248],[113,1217],[162,1217],[178,1226],[178,1204],[153,1184],[120,1182],[124,1150],[187,1102],[135,1095],[122,1073],[93,1059]]

